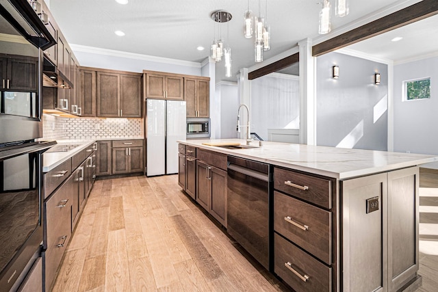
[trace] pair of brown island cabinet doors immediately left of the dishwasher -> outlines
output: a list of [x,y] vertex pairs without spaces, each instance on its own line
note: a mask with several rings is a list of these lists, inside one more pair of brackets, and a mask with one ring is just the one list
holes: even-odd
[[227,227],[227,172],[197,160],[196,202]]

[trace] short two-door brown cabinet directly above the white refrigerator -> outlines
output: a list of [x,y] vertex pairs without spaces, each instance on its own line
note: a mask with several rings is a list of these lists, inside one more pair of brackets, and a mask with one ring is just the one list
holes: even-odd
[[183,101],[184,78],[177,75],[146,73],[146,98]]

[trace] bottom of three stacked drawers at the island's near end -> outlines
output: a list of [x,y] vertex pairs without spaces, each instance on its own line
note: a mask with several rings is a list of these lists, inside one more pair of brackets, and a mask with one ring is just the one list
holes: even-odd
[[296,292],[332,291],[331,267],[320,263],[276,233],[274,248],[274,272]]

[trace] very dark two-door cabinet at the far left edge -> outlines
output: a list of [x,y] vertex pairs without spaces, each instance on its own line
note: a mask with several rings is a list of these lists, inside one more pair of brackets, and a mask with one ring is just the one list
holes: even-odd
[[0,90],[38,91],[38,57],[0,55]]

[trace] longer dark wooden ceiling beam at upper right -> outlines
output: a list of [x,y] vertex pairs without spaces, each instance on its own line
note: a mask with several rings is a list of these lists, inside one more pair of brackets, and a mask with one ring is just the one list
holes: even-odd
[[351,31],[336,36],[335,38],[331,38],[320,44],[315,44],[312,47],[312,55],[313,57],[318,57],[319,55],[341,49],[350,44],[360,42],[361,40],[378,36],[379,34],[384,34],[392,29],[409,25],[410,23],[420,21],[435,14],[438,14],[438,1],[423,0],[402,10],[378,18],[376,21],[352,29]]

